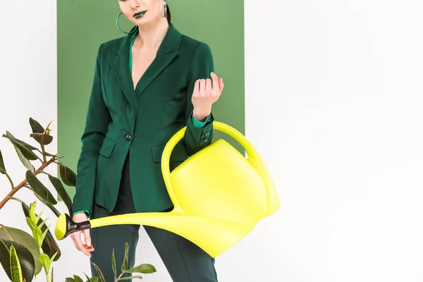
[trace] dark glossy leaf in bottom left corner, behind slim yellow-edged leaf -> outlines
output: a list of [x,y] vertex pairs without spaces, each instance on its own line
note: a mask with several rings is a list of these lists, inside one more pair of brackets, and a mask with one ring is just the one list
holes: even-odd
[[25,281],[31,282],[34,277],[35,262],[34,257],[29,250],[23,245],[6,239],[0,239],[0,263],[3,266],[8,278],[11,280],[11,261],[9,250],[13,245],[18,254],[20,268],[22,269],[23,278]]

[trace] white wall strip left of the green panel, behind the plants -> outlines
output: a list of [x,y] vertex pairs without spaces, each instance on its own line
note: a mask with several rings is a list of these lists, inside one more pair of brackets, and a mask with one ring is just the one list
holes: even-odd
[[[46,149],[56,153],[56,1],[47,0],[43,4],[39,1],[5,1],[1,4],[1,11],[4,13],[0,17],[0,135],[8,130],[36,146],[37,143],[30,138],[30,116],[44,126],[53,121],[50,128],[54,130],[52,135],[55,140]],[[6,138],[0,138],[0,149],[6,169],[17,185],[25,179],[26,168]],[[40,163],[34,161],[33,164],[38,167]],[[46,171],[56,176],[55,168],[49,166]],[[48,178],[47,181],[44,177],[40,178],[43,183],[48,183]],[[0,175],[1,200],[10,190],[10,183],[4,175]],[[27,189],[19,190],[15,197],[28,205],[35,200]],[[38,204],[37,211],[43,209],[42,204]],[[49,209],[44,210],[44,219],[54,219]],[[31,233],[20,203],[13,200],[0,210],[0,223]],[[48,223],[54,226],[54,221]],[[1,267],[0,281],[8,281]]]

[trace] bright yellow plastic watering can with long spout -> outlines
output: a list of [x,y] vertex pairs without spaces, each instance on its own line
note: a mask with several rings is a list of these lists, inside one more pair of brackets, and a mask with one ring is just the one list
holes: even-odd
[[[154,226],[176,233],[195,243],[211,257],[228,250],[265,216],[280,207],[274,183],[262,159],[238,130],[214,121],[213,128],[231,135],[243,145],[248,157],[223,139],[212,142],[186,159],[173,171],[169,159],[186,127],[164,147],[161,171],[174,209],[107,216],[80,223],[61,214],[56,223],[58,240],[87,228],[115,224]],[[207,169],[204,169],[207,168]]]

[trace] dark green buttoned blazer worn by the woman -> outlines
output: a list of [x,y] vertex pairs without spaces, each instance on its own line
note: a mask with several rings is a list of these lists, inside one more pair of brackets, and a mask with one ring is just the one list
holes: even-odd
[[98,49],[73,214],[85,210],[90,216],[94,202],[112,211],[127,154],[137,212],[172,207],[161,175],[166,142],[187,126],[171,154],[171,170],[212,142],[214,117],[196,126],[191,102],[195,80],[209,78],[214,71],[209,46],[182,35],[169,23],[156,58],[134,90],[129,64],[133,32],[137,29]]

